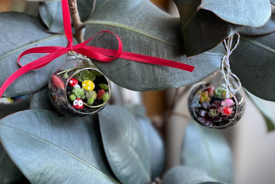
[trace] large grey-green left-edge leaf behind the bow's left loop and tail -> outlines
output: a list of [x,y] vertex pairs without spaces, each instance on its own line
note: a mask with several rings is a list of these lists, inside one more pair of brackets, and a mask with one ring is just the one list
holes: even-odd
[[[17,12],[0,13],[0,85],[20,66],[17,57],[26,49],[36,46],[66,46],[64,35],[46,33],[39,18]],[[24,56],[22,64],[34,61],[45,54]],[[47,66],[30,71],[15,80],[4,92],[5,96],[17,96],[35,92],[45,86],[54,68],[66,61],[66,55],[55,59]],[[4,96],[3,95],[3,96]]]

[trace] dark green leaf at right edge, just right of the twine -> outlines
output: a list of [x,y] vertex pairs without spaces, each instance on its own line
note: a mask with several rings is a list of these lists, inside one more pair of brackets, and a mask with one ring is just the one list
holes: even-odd
[[275,101],[275,33],[262,36],[241,35],[230,56],[232,72],[250,93]]

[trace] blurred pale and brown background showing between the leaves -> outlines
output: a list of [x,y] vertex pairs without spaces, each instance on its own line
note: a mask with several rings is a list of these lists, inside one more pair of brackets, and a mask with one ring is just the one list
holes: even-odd
[[[172,0],[151,0],[165,12],[179,17],[178,10]],[[25,12],[34,16],[38,14],[38,2],[24,0],[0,0],[0,12]],[[1,34],[1,33],[0,33]],[[115,104],[144,104],[148,116],[166,142],[166,169],[180,165],[182,140],[190,115],[187,107],[188,90],[174,104],[172,116],[166,125],[165,117],[175,89],[135,92],[113,84],[113,103]],[[183,87],[180,91],[186,90]],[[10,99],[0,99],[0,103],[10,103]],[[275,118],[275,102],[263,101],[265,108],[272,111]],[[231,146],[234,160],[234,183],[273,184],[275,183],[275,131],[267,132],[264,117],[254,104],[246,98],[246,108],[242,119],[233,127],[218,130],[226,137]]]

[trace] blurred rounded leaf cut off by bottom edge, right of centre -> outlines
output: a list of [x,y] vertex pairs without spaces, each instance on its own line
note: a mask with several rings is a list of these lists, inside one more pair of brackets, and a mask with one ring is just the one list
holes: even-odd
[[214,182],[205,171],[189,166],[177,166],[170,169],[163,177],[162,184],[195,184],[201,182]]

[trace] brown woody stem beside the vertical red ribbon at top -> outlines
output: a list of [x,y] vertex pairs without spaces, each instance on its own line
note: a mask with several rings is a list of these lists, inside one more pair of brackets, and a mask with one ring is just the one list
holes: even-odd
[[75,28],[75,35],[74,37],[77,39],[78,43],[83,43],[84,42],[84,36],[82,33],[82,28],[83,28],[83,23],[80,20],[79,14],[78,14],[78,9],[77,9],[77,3],[76,0],[68,0],[69,3],[69,9],[70,9],[70,14],[73,20],[73,25]]

